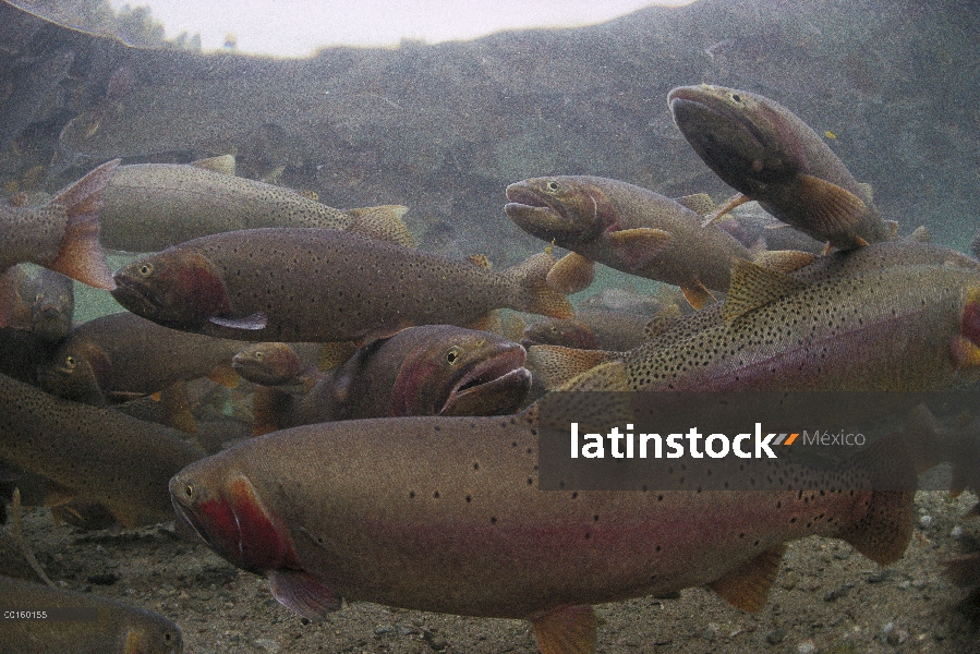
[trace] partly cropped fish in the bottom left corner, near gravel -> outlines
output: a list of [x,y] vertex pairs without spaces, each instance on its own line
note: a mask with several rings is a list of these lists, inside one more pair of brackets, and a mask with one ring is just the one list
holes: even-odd
[[0,577],[0,605],[23,610],[88,609],[96,620],[0,620],[0,643],[9,654],[104,652],[180,654],[180,627],[144,608],[47,585]]

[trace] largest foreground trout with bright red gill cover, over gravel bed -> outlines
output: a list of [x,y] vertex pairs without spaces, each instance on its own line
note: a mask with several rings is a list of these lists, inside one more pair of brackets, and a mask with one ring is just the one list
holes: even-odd
[[[905,552],[915,484],[898,443],[836,473],[772,461],[752,492],[542,492],[532,408],[276,432],[189,465],[173,505],[215,552],[320,618],[340,598],[530,619],[545,654],[592,652],[591,605],[709,584],[760,609],[786,543],[840,537],[885,565]],[[785,475],[784,475],[785,473]],[[800,488],[808,488],[807,492]]]

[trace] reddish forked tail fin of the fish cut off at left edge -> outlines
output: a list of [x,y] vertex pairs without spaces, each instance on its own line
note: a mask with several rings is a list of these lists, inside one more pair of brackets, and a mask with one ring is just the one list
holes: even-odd
[[99,211],[102,192],[112,180],[120,159],[102,164],[62,191],[51,205],[64,207],[68,225],[58,254],[44,267],[97,289],[113,290],[112,272],[99,246]]

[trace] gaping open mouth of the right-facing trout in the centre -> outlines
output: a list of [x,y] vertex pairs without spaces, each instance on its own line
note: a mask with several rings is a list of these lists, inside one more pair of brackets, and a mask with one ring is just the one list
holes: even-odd
[[500,415],[517,410],[531,389],[525,358],[524,348],[512,343],[480,361],[456,382],[438,414]]

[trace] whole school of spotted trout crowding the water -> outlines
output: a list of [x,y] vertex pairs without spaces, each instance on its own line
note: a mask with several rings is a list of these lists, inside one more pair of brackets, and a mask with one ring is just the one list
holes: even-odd
[[[342,600],[525,619],[544,654],[594,652],[600,603],[704,585],[760,610],[809,535],[898,559],[925,459],[976,486],[977,429],[919,416],[837,476],[776,462],[753,491],[539,488],[545,392],[977,383],[980,262],[899,239],[775,101],[709,85],[667,101],[739,194],[516,180],[503,211],[545,252],[503,270],[414,249],[403,206],[328,207],[230,155],[113,159],[44,204],[0,202],[0,471],[83,528],[176,518],[311,620]],[[104,249],[141,254],[110,272]],[[596,264],[695,311],[576,313]],[[72,279],[126,311],[74,324]],[[903,488],[845,492],[854,476]],[[40,585],[16,534],[0,546],[0,604],[99,615],[4,622],[10,651],[182,651],[168,618]]]

